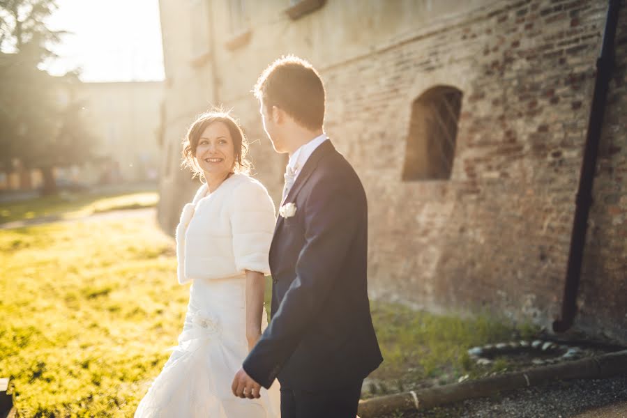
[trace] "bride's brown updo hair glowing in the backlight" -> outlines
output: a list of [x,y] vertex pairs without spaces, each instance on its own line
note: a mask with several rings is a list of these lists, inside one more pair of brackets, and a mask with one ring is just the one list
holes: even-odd
[[211,125],[211,123],[222,122],[227,125],[231,138],[233,139],[233,150],[235,155],[234,173],[250,173],[252,163],[248,160],[248,139],[241,129],[241,126],[229,111],[224,109],[211,109],[196,118],[183,138],[183,162],[182,167],[189,167],[195,178],[198,176],[201,180],[204,178],[202,169],[196,162],[196,147],[202,132]]

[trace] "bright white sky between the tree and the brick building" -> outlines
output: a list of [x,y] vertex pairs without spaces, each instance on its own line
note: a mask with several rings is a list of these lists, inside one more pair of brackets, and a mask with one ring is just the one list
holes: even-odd
[[57,0],[47,26],[72,32],[52,47],[52,75],[82,68],[83,82],[165,78],[158,0]]

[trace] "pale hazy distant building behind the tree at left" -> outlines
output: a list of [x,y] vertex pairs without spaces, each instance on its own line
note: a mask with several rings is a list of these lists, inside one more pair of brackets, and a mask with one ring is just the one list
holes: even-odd
[[[156,183],[163,82],[78,82],[59,86],[56,95],[61,107],[70,100],[82,102],[87,128],[96,143],[96,160],[54,168],[58,183]],[[42,185],[39,170],[24,169],[19,160],[11,168],[0,173],[0,190]]]

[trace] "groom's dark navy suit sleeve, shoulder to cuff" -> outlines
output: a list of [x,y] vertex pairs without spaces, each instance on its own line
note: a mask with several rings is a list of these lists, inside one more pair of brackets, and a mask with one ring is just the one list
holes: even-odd
[[264,387],[272,384],[323,308],[358,226],[367,222],[365,196],[356,191],[361,187],[326,178],[308,196],[303,208],[305,245],[296,262],[296,278],[243,363],[246,373]]

